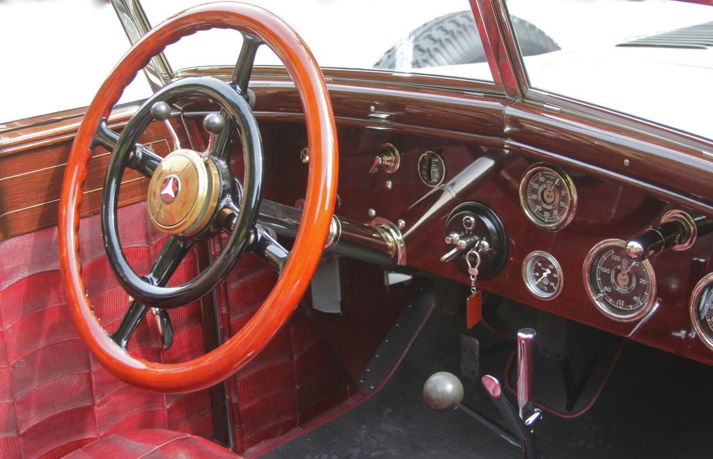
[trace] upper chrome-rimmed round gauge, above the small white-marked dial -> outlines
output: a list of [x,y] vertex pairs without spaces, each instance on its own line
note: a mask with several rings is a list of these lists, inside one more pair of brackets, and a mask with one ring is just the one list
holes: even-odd
[[538,227],[557,231],[567,226],[577,210],[577,191],[563,170],[535,166],[520,182],[520,204]]

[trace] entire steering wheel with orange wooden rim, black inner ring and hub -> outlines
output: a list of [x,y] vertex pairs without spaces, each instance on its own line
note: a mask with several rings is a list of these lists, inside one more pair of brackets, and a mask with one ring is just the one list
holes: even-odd
[[[183,36],[213,28],[237,29],[245,38],[230,83],[208,77],[175,81],[154,94],[135,113],[121,136],[106,127],[106,118],[125,86],[150,58]],[[242,250],[257,237],[254,220],[260,205],[262,146],[255,118],[245,102],[245,94],[255,48],[260,43],[270,46],[284,62],[299,92],[307,123],[309,176],[304,213],[294,247],[270,295],[255,316],[229,341],[198,359],[183,363],[163,364],[137,359],[102,328],[86,295],[78,254],[78,226],[88,160],[96,145],[113,150],[104,189],[102,224],[107,254],[120,284],[141,304],[158,308],[188,304],[210,292],[230,272]],[[150,122],[147,113],[153,111],[155,117],[155,112],[162,111],[162,105],[156,105],[157,101],[170,103],[185,94],[212,98],[221,105],[222,115],[230,116],[224,124],[213,123],[215,142],[212,150],[204,154],[177,150],[164,159],[150,149],[135,144],[140,132]],[[230,167],[225,166],[234,135],[234,132],[230,132],[234,131],[233,125],[240,132],[245,154],[242,188],[230,174]],[[172,163],[169,164],[169,161]],[[170,195],[175,198],[182,193],[181,187],[185,185],[188,188],[185,181],[180,182],[184,177],[177,172],[177,164],[181,167],[187,164],[196,175],[201,175],[202,178],[198,177],[199,183],[191,186],[200,185],[199,188],[207,191],[198,193],[200,199],[195,198],[193,202],[198,206],[198,211],[192,211],[193,214],[188,212],[193,217],[186,217],[185,222],[177,222],[180,218],[172,220],[173,215],[168,221],[161,220],[160,211],[152,214],[149,203],[152,221],[161,220],[158,223],[153,221],[154,225],[171,235],[151,272],[138,277],[128,264],[123,266],[125,258],[116,234],[120,172],[123,172],[124,167],[132,167],[152,177],[149,200],[157,199],[158,196],[160,199],[165,198],[165,205],[170,205]],[[160,175],[158,180],[157,175]],[[195,181],[195,177],[191,177]],[[185,195],[188,194],[185,192]],[[111,373],[135,386],[180,393],[197,391],[222,381],[267,345],[302,298],[322,256],[336,194],[337,135],[332,105],[322,71],[302,38],[274,14],[250,4],[217,2],[196,6],[172,16],[135,43],[114,68],[89,105],[72,145],[61,192],[59,249],[68,307],[81,339]],[[191,281],[193,284],[188,282],[183,286],[163,287],[192,242],[217,234],[216,228],[220,227],[218,215],[225,209],[234,210],[237,217],[229,228],[222,228],[231,236],[220,257],[199,274],[195,282]]]

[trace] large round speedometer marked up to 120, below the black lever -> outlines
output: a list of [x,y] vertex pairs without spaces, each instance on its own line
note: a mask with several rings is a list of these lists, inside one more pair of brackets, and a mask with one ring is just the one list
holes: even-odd
[[606,239],[596,244],[585,259],[584,282],[597,309],[611,319],[640,319],[656,299],[656,278],[651,263],[632,262],[626,242]]

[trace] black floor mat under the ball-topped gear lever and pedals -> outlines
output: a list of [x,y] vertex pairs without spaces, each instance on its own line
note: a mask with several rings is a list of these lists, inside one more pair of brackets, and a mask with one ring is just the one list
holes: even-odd
[[[521,458],[466,414],[434,413],[422,400],[431,373],[461,376],[464,322],[432,316],[379,393],[262,458]],[[481,360],[481,373],[500,378],[508,354]],[[538,445],[549,459],[711,458],[712,381],[713,367],[627,343],[594,406],[574,419],[546,415]],[[466,378],[463,384],[466,403],[498,419],[480,384]]]

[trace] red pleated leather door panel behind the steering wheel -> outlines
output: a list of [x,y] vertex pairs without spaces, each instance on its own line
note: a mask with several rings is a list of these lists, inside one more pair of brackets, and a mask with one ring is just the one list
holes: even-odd
[[[145,272],[163,243],[145,205],[119,211],[123,247]],[[112,331],[127,295],[106,262],[99,216],[81,222],[81,259],[96,311]],[[168,428],[212,438],[207,391],[180,396],[128,386],[106,371],[79,339],[65,304],[56,228],[0,242],[0,458],[57,458],[97,438],[141,428]],[[195,274],[186,259],[172,282]],[[169,311],[175,340],[160,347],[152,321],[130,341],[134,355],[153,361],[204,352],[198,305]]]

